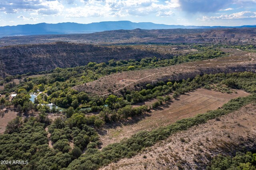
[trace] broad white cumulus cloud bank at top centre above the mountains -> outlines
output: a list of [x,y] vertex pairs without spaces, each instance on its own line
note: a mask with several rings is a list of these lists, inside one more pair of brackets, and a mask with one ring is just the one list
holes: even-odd
[[[85,5],[69,8],[66,18],[109,17],[109,16],[170,16],[172,8],[179,6],[178,0],[83,0]],[[104,9],[104,10],[102,10]]]

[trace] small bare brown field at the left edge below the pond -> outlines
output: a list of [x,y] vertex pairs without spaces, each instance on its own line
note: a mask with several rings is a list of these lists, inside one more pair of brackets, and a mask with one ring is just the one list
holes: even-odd
[[4,111],[4,114],[1,114],[1,116],[0,116],[0,134],[4,133],[8,122],[17,117],[17,113],[18,112],[8,110],[8,111]]

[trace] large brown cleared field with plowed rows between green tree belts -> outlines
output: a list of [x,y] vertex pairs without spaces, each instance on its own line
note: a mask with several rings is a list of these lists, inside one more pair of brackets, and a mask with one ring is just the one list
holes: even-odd
[[[247,96],[242,90],[237,93],[227,94],[206,89],[197,89],[194,92],[181,95],[178,100],[163,105],[160,109],[150,113],[133,117],[131,120],[110,124],[100,132],[103,146],[120,141],[122,138],[130,137],[140,130],[152,130],[176,122],[177,120],[193,117],[205,113],[208,110],[215,110],[218,107],[236,97]],[[145,102],[146,105],[154,101]]]

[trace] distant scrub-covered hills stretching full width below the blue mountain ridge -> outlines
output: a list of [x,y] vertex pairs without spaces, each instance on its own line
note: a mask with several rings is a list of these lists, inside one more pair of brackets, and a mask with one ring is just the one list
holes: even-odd
[[0,46],[56,41],[118,44],[118,43],[255,43],[256,28],[114,30],[91,34],[62,34],[4,37]]

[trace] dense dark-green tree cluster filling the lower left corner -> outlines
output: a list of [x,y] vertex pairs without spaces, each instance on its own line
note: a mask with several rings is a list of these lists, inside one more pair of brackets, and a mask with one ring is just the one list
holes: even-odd
[[[99,145],[94,128],[77,122],[69,124],[68,121],[58,118],[48,126],[53,144],[53,148],[50,148],[45,130],[47,124],[42,123],[44,121],[34,117],[24,122],[20,117],[14,119],[8,124],[12,130],[0,135],[0,159],[28,160],[29,164],[1,164],[0,169],[57,170],[67,167],[85,148]],[[74,148],[70,143],[74,144]]]

